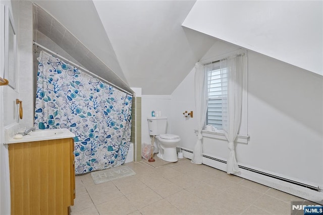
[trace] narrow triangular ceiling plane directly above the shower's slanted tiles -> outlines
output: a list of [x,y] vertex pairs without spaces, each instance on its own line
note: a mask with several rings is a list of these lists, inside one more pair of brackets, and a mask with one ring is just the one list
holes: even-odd
[[92,1],[33,2],[52,15],[117,76],[126,81]]

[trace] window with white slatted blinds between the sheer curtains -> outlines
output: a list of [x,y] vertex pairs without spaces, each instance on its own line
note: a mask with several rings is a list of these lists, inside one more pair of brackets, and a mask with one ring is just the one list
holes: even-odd
[[227,80],[221,80],[220,61],[211,63],[207,71],[207,117],[206,124],[222,129],[222,95],[227,93]]

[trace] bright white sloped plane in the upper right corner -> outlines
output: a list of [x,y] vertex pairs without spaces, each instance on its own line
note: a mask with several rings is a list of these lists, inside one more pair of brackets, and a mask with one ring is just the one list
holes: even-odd
[[182,25],[323,75],[322,1],[197,1]]

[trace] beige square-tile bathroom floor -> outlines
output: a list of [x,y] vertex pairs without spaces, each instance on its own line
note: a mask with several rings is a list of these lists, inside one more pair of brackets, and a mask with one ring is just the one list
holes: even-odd
[[71,214],[290,214],[303,200],[190,161],[127,163],[136,175],[97,185],[76,176]]

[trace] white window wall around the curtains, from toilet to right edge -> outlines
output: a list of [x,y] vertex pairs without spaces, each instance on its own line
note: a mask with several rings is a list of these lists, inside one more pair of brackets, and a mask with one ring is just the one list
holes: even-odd
[[[225,46],[228,52],[237,48],[216,43],[204,59],[223,55]],[[173,92],[173,113],[195,110],[194,72]],[[248,81],[250,139],[248,144],[237,144],[238,163],[322,186],[322,76],[248,51]],[[170,122],[171,133],[181,136],[182,147],[193,150],[195,119],[176,114]],[[203,138],[203,152],[226,160],[229,150],[226,141]]]

